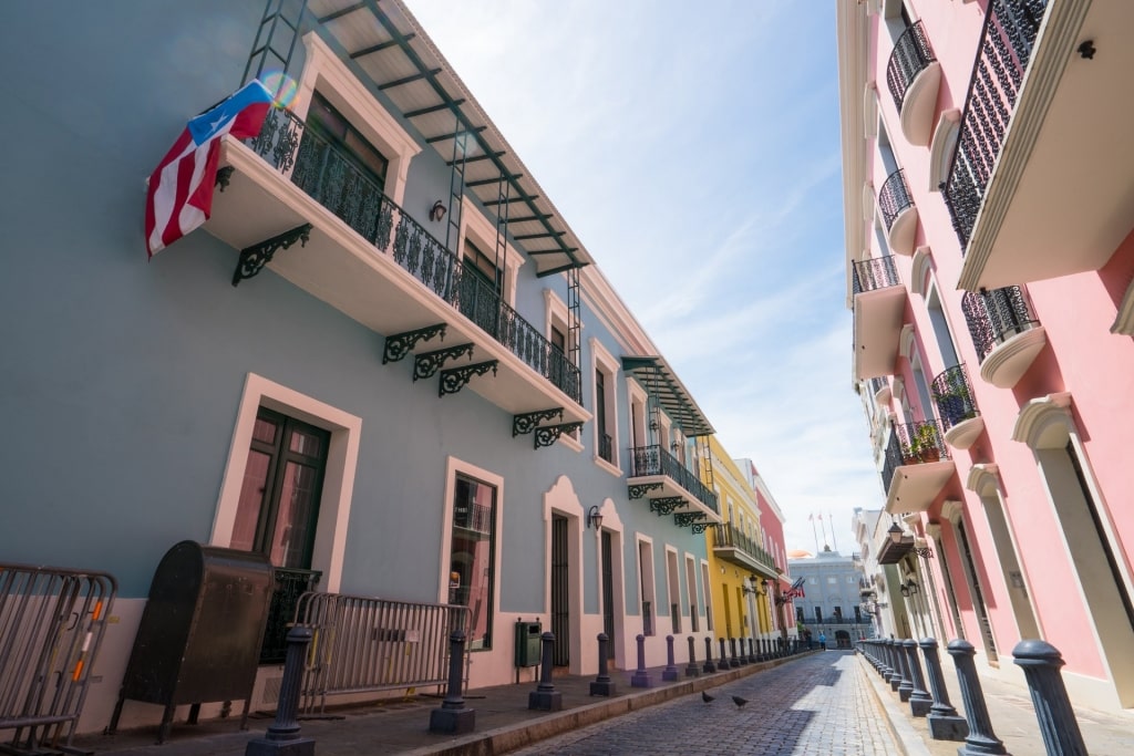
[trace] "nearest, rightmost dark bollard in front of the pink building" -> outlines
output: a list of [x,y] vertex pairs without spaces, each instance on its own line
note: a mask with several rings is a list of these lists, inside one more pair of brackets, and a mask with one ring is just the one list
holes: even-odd
[[1063,655],[1043,640],[1021,640],[1012,649],[1012,655],[1027,679],[1048,756],[1086,756],[1083,733],[1059,673],[1064,664]]

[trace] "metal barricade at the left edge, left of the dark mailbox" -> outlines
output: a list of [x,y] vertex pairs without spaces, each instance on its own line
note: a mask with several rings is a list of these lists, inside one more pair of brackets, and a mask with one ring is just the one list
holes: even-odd
[[117,592],[105,572],[0,563],[0,749],[69,749]]

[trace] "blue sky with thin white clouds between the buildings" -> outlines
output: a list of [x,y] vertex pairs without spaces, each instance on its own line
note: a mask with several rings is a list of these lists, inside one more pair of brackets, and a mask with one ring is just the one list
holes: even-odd
[[755,462],[786,549],[854,552],[882,487],[850,373],[835,3],[405,2]]

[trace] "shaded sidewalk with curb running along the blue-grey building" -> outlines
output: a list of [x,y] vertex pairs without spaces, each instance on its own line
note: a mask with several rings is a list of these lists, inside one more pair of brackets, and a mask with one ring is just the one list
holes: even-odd
[[[422,695],[344,710],[337,712],[342,715],[339,720],[302,720],[302,736],[314,739],[319,756],[501,754],[579,727],[790,664],[809,653],[819,652],[804,652],[725,672],[702,673],[696,678],[685,677],[685,663],[679,662],[679,677],[671,682],[661,679],[665,668],[652,668],[651,688],[632,688],[632,671],[615,670],[610,677],[617,695],[610,698],[591,697],[593,676],[556,677],[555,688],[562,695],[562,711],[559,712],[527,708],[527,694],[535,690],[535,682],[476,688],[465,695],[466,706],[476,711],[476,731],[466,736],[430,733],[430,711],[441,705],[441,698]],[[702,663],[699,662],[697,666]],[[248,730],[242,732],[238,719],[202,721],[197,725],[175,722],[170,737],[160,746],[155,744],[156,727],[120,730],[113,736],[79,736],[73,746],[100,756],[243,756],[248,740],[263,737],[271,723],[270,716],[249,719]]]

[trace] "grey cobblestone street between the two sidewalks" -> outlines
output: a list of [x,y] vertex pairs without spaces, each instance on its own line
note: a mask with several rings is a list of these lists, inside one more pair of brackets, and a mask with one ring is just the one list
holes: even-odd
[[[523,756],[898,753],[854,654],[827,652],[515,751]],[[731,696],[747,699],[743,708]]]

